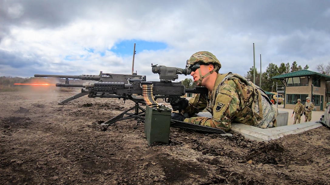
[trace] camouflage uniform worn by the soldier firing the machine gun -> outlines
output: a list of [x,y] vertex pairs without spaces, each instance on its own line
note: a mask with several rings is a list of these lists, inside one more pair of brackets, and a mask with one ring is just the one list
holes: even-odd
[[[213,118],[194,117],[205,108]],[[217,74],[212,93],[196,94],[191,98],[189,106],[182,110],[184,113],[190,116],[184,119],[185,122],[228,131],[231,122],[259,128],[276,127],[278,110],[260,87],[238,74],[227,73]]]

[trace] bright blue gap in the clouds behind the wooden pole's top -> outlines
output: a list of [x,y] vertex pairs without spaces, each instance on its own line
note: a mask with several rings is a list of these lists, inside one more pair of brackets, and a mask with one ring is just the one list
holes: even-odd
[[135,43],[135,51],[139,53],[143,50],[161,50],[166,49],[167,44],[164,42],[149,42],[145,40],[122,40],[115,44],[110,51],[116,53],[117,55],[132,55]]

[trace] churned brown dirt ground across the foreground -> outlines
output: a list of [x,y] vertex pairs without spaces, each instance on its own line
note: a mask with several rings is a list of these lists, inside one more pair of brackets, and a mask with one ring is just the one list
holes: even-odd
[[130,100],[35,88],[0,93],[0,184],[330,184],[330,130],[270,143],[171,128],[152,144],[134,119],[99,123]]

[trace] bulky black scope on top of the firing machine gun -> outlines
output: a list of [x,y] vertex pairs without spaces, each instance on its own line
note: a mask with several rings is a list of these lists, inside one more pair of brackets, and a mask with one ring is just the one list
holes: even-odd
[[160,81],[174,81],[178,79],[178,74],[184,74],[188,75],[191,73],[191,70],[188,69],[187,67],[182,69],[179,67],[166,67],[166,66],[157,66],[152,65],[152,72],[153,73],[158,73],[159,74],[159,79]]

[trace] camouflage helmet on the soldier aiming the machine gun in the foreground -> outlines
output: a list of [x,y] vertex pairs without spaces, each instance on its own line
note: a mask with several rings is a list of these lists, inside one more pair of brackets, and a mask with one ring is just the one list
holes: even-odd
[[221,68],[219,60],[211,52],[208,51],[199,51],[191,55],[190,59],[187,61],[187,65],[190,66],[197,63],[213,64],[216,72],[218,72]]

